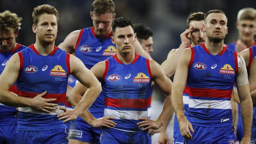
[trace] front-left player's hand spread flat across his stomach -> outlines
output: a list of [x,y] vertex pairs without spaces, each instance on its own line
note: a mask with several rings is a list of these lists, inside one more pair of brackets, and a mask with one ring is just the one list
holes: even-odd
[[44,111],[46,113],[50,113],[50,111],[55,111],[56,110],[56,106],[58,106],[57,103],[50,103],[53,101],[56,101],[56,98],[49,98],[49,99],[45,99],[42,98],[42,96],[44,96],[47,92],[43,92],[41,94],[38,94],[37,96],[35,96],[34,98],[31,99],[31,103],[32,103],[32,107],[36,108],[36,109],[40,109],[41,111]]

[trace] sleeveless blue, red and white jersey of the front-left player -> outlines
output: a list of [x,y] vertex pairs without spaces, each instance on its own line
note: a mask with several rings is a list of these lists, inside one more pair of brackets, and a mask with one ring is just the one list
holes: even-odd
[[19,107],[17,130],[39,131],[66,128],[57,115],[65,105],[68,76],[70,74],[70,55],[54,46],[49,55],[41,55],[31,45],[18,52],[20,57],[20,74],[17,80],[19,96],[33,98],[47,91],[43,98],[56,98],[56,111],[44,113],[31,107]]

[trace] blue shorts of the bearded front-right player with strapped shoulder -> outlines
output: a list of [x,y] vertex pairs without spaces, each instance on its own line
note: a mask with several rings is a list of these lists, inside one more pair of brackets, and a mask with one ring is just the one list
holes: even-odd
[[185,139],[185,144],[234,144],[236,134],[233,125],[225,127],[201,127],[192,125],[192,140]]

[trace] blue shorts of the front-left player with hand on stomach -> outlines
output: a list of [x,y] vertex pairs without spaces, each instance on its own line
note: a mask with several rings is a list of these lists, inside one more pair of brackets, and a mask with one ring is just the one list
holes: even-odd
[[17,131],[17,144],[68,144],[67,129]]

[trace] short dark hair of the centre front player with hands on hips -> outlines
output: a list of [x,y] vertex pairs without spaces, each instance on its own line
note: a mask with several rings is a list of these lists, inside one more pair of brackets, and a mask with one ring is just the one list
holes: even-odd
[[134,30],[134,25],[130,18],[126,18],[126,17],[115,18],[111,24],[113,33],[115,33],[116,28],[124,28],[126,26],[132,26],[132,29]]

